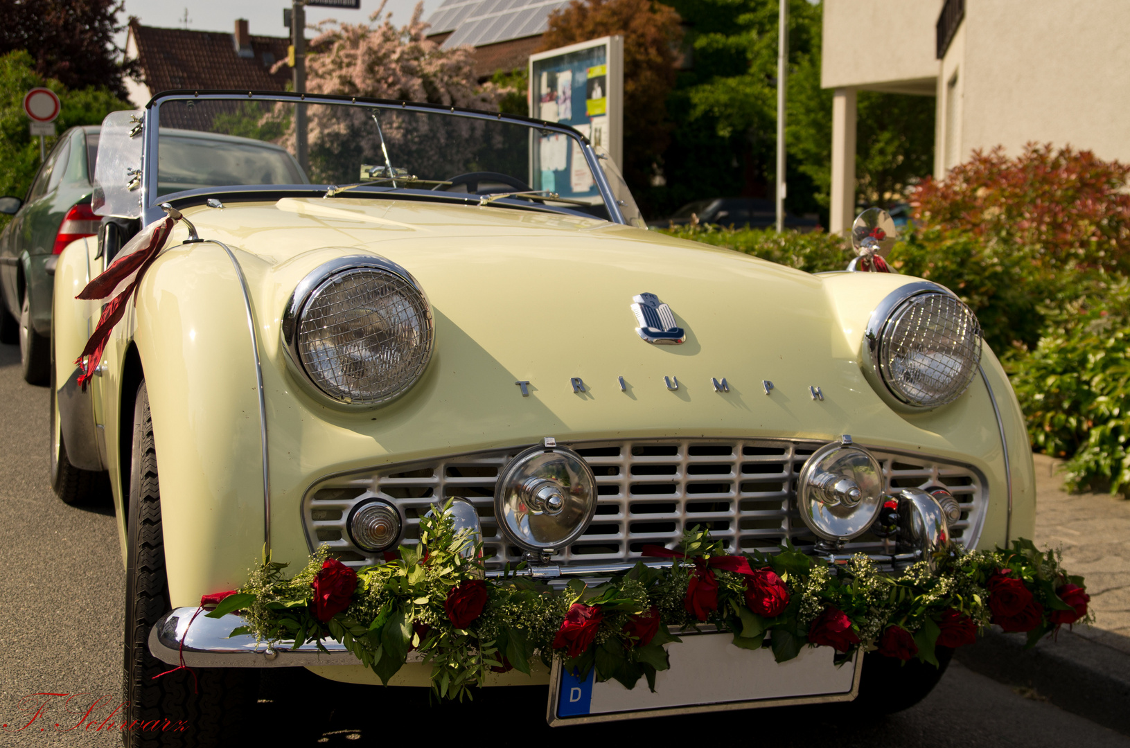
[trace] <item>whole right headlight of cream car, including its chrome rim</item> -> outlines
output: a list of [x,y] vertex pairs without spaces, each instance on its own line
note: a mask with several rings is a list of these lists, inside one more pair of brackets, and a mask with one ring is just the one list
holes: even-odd
[[863,334],[863,373],[895,407],[957,400],[981,364],[981,325],[949,289],[913,282],[887,296]]

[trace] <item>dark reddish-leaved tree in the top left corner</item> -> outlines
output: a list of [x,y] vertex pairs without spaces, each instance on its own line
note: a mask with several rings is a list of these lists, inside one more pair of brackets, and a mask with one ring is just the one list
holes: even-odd
[[108,88],[125,98],[114,34],[123,3],[115,0],[0,0],[0,54],[26,50],[34,70],[67,88]]

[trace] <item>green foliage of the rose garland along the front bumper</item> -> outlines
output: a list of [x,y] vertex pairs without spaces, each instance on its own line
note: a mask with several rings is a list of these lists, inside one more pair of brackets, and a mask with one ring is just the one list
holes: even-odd
[[[954,609],[980,626],[988,625],[985,582],[997,569],[1014,569],[1046,610],[1070,609],[1057,597],[1060,584],[1083,586],[1081,577],[1062,571],[1055,554],[1041,554],[1025,540],[1014,543],[1010,551],[967,553],[955,546],[930,559],[936,571],[922,560],[896,575],[880,572],[863,555],[832,566],[789,542],[774,555],[728,556],[722,543],[699,527],[684,533],[677,551],[666,551],[673,557],[670,567],[637,564],[596,586],[575,577],[564,590],[554,590],[508,568],[501,577],[479,582],[481,563],[462,555],[471,538],[466,530],[454,531],[451,515],[443,511],[446,507],[450,501],[436,507],[434,516],[420,519],[418,546],[401,546],[398,559],[360,569],[348,607],[328,623],[319,621],[312,607],[312,583],[328,555],[324,547],[292,579],[282,574],[286,564],[264,559],[236,594],[208,615],[219,618],[240,610],[246,625],[233,635],[251,633],[272,644],[289,642],[294,649],[305,642],[321,646],[323,638],[332,637],[385,684],[408,653],[417,650],[432,664],[435,693],[442,698],[463,698],[472,696],[470,688],[481,685],[490,669],[513,667],[529,673],[534,654],[547,666],[559,658],[563,667],[582,677],[594,669],[598,680],[615,679],[633,688],[645,678],[654,689],[655,673],[670,668],[663,645],[680,641],[669,627],[695,629],[702,623],[731,633],[737,646],[772,647],[777,662],[784,662],[811,644],[808,630],[828,608],[850,618],[861,646],[873,644],[894,624],[915,636],[922,660],[937,664],[933,649],[942,614]],[[742,569],[764,568],[780,577],[790,595],[785,610],[775,618],[754,614],[746,602]],[[716,608],[705,621],[692,616],[686,602],[689,580],[704,575],[716,582]],[[455,628],[444,603],[454,588],[464,584],[484,585],[487,599],[467,628]],[[599,616],[590,643],[570,656],[565,647],[555,646],[555,638],[574,605]],[[640,615],[660,618],[654,638],[646,643],[625,632],[632,617]],[[1041,636],[1054,630],[1046,618],[1041,621]],[[851,655],[849,651],[841,656]]]

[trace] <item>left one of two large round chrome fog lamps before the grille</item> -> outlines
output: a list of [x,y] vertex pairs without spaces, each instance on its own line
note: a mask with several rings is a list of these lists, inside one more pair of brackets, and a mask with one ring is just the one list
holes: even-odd
[[597,511],[597,479],[573,450],[534,446],[502,471],[495,517],[503,534],[525,550],[553,553],[580,538]]

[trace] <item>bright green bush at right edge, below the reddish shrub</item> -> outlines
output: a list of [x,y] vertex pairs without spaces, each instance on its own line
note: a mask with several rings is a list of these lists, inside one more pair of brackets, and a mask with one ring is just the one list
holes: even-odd
[[1069,458],[1068,487],[1130,494],[1130,282],[1095,282],[1050,312],[1009,364],[1033,445]]

